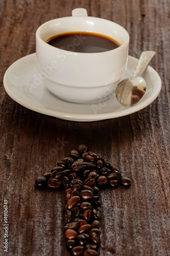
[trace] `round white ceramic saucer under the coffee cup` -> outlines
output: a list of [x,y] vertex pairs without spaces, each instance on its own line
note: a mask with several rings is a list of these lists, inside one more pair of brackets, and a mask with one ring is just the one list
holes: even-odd
[[[127,74],[132,75],[138,59],[128,57]],[[147,82],[147,91],[133,107],[126,108],[117,102],[115,94],[102,103],[80,104],[61,100],[45,87],[45,80],[33,86],[33,80],[39,76],[36,54],[30,54],[15,61],[4,75],[4,87],[8,95],[26,108],[57,118],[72,121],[97,121],[126,116],[148,106],[156,99],[161,90],[158,73],[148,66],[143,74]],[[38,82],[38,80],[37,80]],[[35,83],[34,83],[35,84]]]

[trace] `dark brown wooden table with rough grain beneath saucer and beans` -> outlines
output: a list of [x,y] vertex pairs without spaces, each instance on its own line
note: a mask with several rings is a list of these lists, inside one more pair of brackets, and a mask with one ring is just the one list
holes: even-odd
[[[24,108],[4,90],[3,76],[17,59],[35,52],[35,32],[77,7],[114,20],[130,34],[129,54],[155,50],[151,66],[162,90],[147,108],[96,122],[66,121]],[[169,1],[2,0],[0,184],[1,255],[70,255],[62,216],[64,191],[39,191],[35,179],[80,143],[104,156],[132,180],[129,189],[101,194],[100,255],[170,255]],[[65,142],[63,142],[65,141]],[[4,252],[4,200],[8,200],[8,253]]]

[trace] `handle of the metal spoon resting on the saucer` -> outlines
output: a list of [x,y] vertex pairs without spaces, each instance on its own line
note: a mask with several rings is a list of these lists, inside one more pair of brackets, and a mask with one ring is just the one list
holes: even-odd
[[155,53],[154,51],[144,51],[141,53],[134,76],[141,76]]

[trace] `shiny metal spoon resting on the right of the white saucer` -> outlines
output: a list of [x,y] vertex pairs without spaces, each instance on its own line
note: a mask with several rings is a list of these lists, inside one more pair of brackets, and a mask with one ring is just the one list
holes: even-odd
[[155,53],[154,51],[142,52],[137,63],[135,74],[118,83],[115,94],[118,102],[123,106],[133,106],[143,97],[147,83],[140,76],[147,68],[148,63]]

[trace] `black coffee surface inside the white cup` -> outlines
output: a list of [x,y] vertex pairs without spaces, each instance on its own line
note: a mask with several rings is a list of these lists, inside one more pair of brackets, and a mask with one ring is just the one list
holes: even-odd
[[97,53],[113,50],[120,45],[114,39],[95,33],[69,32],[47,40],[51,46],[71,52]]

